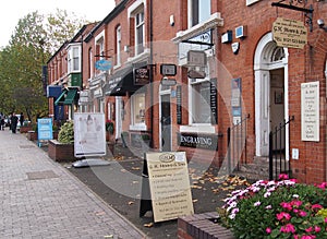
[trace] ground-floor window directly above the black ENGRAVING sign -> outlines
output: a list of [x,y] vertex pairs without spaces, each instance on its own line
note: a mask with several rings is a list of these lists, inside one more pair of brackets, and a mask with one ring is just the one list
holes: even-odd
[[192,123],[210,123],[210,82],[191,80]]

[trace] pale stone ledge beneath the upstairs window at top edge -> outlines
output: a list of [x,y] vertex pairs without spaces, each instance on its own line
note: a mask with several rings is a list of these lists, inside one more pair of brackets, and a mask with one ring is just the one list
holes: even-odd
[[181,43],[182,40],[186,40],[198,35],[198,33],[203,33],[216,26],[222,26],[222,25],[223,25],[223,19],[221,19],[220,12],[216,12],[211,14],[206,22],[197,24],[189,29],[178,32],[177,36],[172,40],[178,44]]

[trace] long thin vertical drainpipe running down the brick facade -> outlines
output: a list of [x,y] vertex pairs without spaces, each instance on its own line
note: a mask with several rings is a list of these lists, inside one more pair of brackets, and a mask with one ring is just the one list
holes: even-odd
[[154,26],[153,26],[153,21],[154,21],[154,5],[153,5],[153,0],[149,0],[149,40],[150,40],[150,55],[149,55],[149,65],[150,65],[150,116],[152,116],[152,141],[150,141],[150,147],[154,147]]

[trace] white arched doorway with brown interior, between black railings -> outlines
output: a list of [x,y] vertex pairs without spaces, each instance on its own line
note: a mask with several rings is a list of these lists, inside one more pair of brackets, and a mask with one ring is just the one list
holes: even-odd
[[[288,119],[288,50],[278,47],[272,34],[258,43],[254,57],[256,156],[268,156],[269,132]],[[289,155],[288,129],[280,139]],[[288,159],[288,158],[287,158]]]

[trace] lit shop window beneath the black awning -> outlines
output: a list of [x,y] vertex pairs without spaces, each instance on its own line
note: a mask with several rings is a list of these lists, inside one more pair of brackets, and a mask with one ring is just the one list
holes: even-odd
[[145,94],[134,94],[131,96],[132,103],[132,124],[145,124]]

